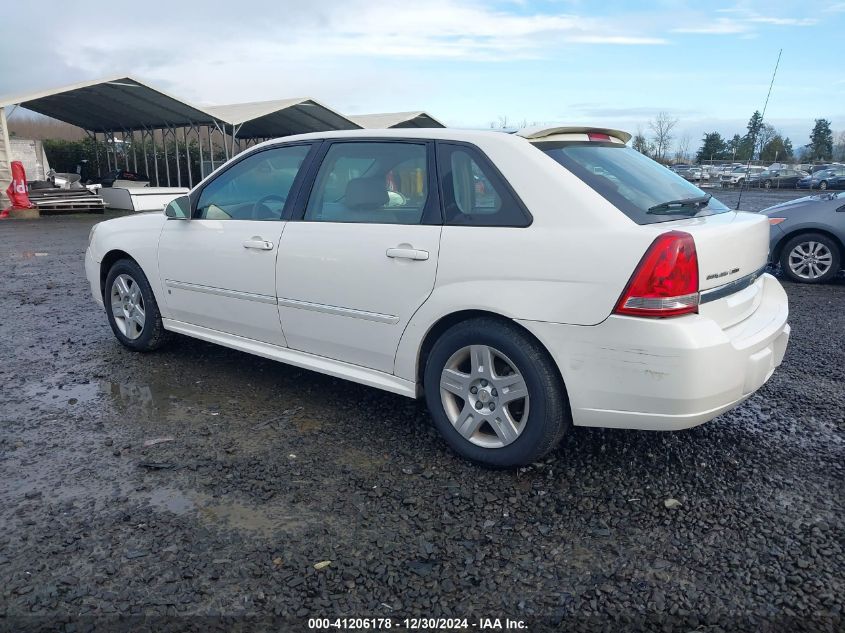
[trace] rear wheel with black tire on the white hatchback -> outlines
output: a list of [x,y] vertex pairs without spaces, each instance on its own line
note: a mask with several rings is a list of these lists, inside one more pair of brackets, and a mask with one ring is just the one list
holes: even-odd
[[[478,361],[484,358],[488,362]],[[434,425],[449,446],[493,468],[537,461],[571,425],[566,391],[548,352],[505,320],[471,319],[444,332],[428,355],[423,384]]]

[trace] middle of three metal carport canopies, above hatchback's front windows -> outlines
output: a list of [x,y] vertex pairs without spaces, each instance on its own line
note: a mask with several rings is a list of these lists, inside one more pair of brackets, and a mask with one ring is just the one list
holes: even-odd
[[339,112],[307,98],[233,103],[206,106],[205,109],[232,127],[241,139],[356,130],[361,127]]

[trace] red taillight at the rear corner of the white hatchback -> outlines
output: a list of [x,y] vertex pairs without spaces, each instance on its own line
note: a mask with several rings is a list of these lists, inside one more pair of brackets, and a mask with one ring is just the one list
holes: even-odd
[[660,235],[640,260],[614,312],[667,317],[698,312],[698,255],[692,235]]

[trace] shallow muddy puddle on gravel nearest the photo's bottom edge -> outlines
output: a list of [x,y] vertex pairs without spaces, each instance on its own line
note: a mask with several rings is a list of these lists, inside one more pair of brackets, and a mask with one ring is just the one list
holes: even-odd
[[277,531],[289,531],[301,522],[300,518],[285,513],[283,508],[278,506],[248,505],[173,488],[154,490],[150,494],[150,504],[177,515],[196,513],[203,523],[261,536],[271,536]]

